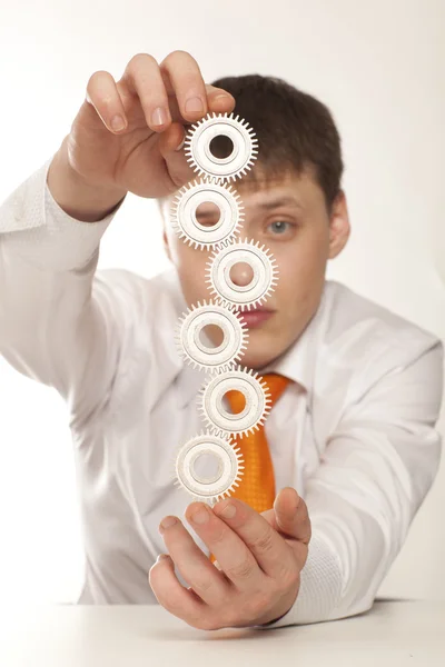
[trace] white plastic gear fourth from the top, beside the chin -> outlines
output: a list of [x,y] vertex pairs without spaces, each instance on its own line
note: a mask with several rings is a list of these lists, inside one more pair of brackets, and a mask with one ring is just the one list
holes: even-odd
[[[218,347],[209,347],[200,339],[208,325],[219,327],[224,340]],[[234,368],[247,348],[248,329],[241,316],[233,309],[209,302],[189,309],[179,320],[176,344],[181,356],[195,368],[228,370]]]

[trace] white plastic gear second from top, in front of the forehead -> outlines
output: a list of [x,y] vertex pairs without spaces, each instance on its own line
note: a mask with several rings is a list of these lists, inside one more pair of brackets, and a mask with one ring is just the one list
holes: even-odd
[[[219,220],[211,227],[200,225],[196,211],[201,203],[211,202],[220,211]],[[184,186],[171,202],[171,226],[179,238],[201,250],[218,248],[233,240],[244,222],[244,206],[239,195],[227,183],[208,179]]]

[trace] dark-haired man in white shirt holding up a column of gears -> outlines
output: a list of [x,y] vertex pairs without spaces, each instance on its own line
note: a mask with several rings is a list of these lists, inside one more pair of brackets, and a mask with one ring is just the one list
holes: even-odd
[[[237,494],[192,502],[186,528],[171,461],[202,430],[205,377],[174,332],[209,298],[209,253],[172,232],[167,208],[194,179],[185,126],[234,108],[259,142],[236,185],[243,236],[279,267],[263,312],[245,318],[241,359],[287,382],[265,428],[279,492],[260,511]],[[437,471],[442,345],[325,280],[349,236],[342,170],[334,121],[313,97],[255,76],[206,86],[189,53],[160,64],[141,53],[118,82],[91,77],[59,151],[1,207],[0,354],[67,401],[87,556],[80,603],[157,599],[204,629],[370,608]],[[175,268],[151,280],[96,270],[128,191],[165,212]],[[246,280],[243,268],[234,280]]]

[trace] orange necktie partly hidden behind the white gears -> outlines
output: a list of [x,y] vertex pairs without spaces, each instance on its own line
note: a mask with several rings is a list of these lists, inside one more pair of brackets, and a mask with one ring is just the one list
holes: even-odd
[[[258,379],[264,380],[269,388],[271,409],[290,380],[277,374],[267,374]],[[228,391],[226,397],[234,414],[244,409],[245,398],[240,391]],[[234,447],[239,447],[243,455],[244,470],[239,486],[235,487],[230,498],[244,500],[259,514],[270,509],[275,500],[275,475],[264,425],[253,434],[243,438],[233,436],[231,439]],[[216,560],[212,554],[210,560]]]

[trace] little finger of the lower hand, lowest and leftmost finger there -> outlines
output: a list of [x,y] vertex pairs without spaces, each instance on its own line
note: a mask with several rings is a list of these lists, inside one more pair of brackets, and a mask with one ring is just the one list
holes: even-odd
[[195,624],[207,614],[207,605],[178,580],[171,558],[158,559],[148,580],[158,603],[175,616]]

